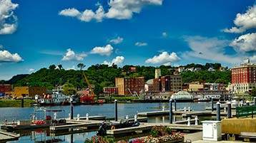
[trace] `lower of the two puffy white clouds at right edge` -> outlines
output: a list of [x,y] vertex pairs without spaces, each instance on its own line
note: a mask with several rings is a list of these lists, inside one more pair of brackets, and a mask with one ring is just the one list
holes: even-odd
[[247,33],[235,38],[230,46],[234,47],[237,52],[255,52],[256,51],[256,33]]

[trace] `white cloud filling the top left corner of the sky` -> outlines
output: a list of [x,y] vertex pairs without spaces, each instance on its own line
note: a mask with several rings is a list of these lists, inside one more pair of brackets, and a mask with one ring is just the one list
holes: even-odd
[[14,10],[19,4],[13,4],[11,0],[0,0],[0,34],[11,34],[16,31],[17,17]]

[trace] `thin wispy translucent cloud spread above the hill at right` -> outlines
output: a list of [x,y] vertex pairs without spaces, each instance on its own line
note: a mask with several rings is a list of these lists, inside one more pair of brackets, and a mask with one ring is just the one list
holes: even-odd
[[242,57],[237,55],[225,55],[225,47],[229,46],[230,41],[202,36],[187,36],[185,41],[191,49],[182,54],[182,58],[186,60],[201,58],[225,63],[240,63],[242,60]]

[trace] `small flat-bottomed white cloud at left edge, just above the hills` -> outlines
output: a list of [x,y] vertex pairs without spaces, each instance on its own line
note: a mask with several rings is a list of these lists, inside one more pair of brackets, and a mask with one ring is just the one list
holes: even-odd
[[18,53],[11,54],[9,51],[0,51],[0,63],[18,63],[23,61]]

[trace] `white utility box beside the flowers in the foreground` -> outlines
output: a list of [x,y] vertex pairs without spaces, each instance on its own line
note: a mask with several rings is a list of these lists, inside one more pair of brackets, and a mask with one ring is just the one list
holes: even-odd
[[219,141],[222,139],[221,121],[202,121],[202,139]]

